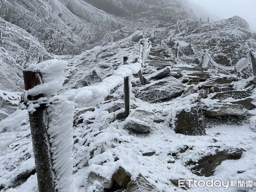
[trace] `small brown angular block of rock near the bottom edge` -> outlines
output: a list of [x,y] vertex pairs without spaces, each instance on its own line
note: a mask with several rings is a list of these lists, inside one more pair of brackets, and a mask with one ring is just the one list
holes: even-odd
[[128,186],[128,183],[131,180],[131,174],[127,172],[122,167],[119,167],[117,171],[112,175],[113,180],[116,181],[116,183],[121,186],[123,189],[126,189]]

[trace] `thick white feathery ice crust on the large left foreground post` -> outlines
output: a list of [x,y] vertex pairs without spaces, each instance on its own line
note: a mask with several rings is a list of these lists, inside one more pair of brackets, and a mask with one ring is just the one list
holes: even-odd
[[[54,95],[63,83],[63,72],[67,63],[57,59],[30,65],[27,70],[40,71],[43,83],[27,90],[28,95],[44,94],[47,98],[49,125],[47,135],[51,153],[55,190],[68,192],[73,168],[73,112],[75,103]],[[36,110],[36,108],[35,108]]]

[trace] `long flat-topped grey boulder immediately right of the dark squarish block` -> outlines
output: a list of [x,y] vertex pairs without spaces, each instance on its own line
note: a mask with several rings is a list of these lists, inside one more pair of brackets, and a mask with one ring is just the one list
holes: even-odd
[[227,103],[216,103],[210,108],[204,110],[206,116],[217,117],[217,116],[247,116],[249,112],[242,105],[238,104],[227,104]]

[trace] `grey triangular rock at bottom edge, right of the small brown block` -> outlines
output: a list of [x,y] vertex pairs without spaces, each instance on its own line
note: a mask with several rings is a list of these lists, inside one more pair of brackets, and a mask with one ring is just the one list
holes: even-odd
[[159,192],[157,188],[146,180],[143,175],[139,174],[135,181],[128,183],[125,192]]

